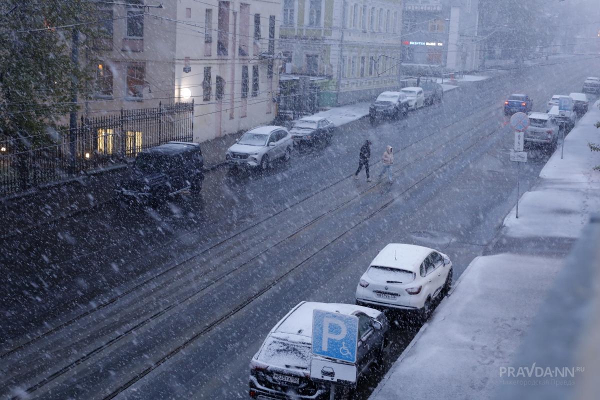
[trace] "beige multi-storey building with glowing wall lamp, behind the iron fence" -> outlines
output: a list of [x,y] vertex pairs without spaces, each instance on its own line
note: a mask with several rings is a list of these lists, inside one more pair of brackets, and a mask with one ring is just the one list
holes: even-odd
[[271,122],[280,7],[269,0],[106,2],[101,29],[112,40],[94,46],[89,115],[193,101],[194,142]]

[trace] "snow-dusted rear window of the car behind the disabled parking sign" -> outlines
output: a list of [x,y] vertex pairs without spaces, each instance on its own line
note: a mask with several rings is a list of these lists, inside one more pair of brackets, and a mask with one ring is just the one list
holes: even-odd
[[289,365],[308,369],[312,356],[309,344],[284,341],[269,336],[260,352],[259,360],[269,365]]

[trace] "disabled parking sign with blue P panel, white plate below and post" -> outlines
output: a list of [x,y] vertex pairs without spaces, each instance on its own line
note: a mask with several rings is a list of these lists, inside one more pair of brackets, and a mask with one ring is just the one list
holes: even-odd
[[335,386],[356,386],[358,317],[320,309],[313,310],[313,347],[310,364],[312,380],[331,383],[329,398],[335,398]]

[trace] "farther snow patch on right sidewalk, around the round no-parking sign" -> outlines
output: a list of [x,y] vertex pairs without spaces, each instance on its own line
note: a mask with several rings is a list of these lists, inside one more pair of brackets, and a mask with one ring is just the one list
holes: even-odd
[[504,220],[505,234],[512,237],[578,237],[590,213],[600,209],[600,154],[587,143],[600,143],[600,102],[590,107],[577,127],[565,138],[565,154],[554,152],[538,182]]

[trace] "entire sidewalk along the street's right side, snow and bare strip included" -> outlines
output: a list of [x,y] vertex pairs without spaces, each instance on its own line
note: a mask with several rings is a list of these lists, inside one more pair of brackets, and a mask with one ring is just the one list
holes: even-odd
[[[574,340],[545,342],[552,336],[551,332],[574,326],[567,321],[573,315],[577,315],[579,321],[592,320],[597,324],[596,330],[585,332],[582,329],[578,335],[596,338],[598,335],[598,309],[583,301],[566,300],[570,295],[598,303],[598,288],[583,293],[573,290],[576,293],[572,293],[572,285],[565,273],[584,282],[594,279],[597,282],[600,261],[587,258],[586,267],[577,269],[579,264],[572,266],[574,256],[571,255],[569,267],[563,267],[563,264],[572,243],[582,237],[590,215],[600,210],[600,172],[592,170],[600,164],[600,154],[587,147],[589,142],[600,142],[600,130],[594,126],[600,121],[599,104],[590,107],[587,115],[566,137],[563,160],[559,147],[542,169],[532,190],[523,194],[519,218],[516,218],[515,209],[506,216],[490,248],[491,252],[502,254],[485,255],[472,261],[454,285],[451,296],[440,304],[431,320],[404,350],[374,390],[371,400],[505,399],[507,393],[518,399],[530,398],[523,393],[542,392],[560,393],[553,396],[560,399],[566,398],[565,387],[578,382],[580,386],[586,381],[598,385],[592,371],[580,375],[580,380],[577,375],[566,379],[546,375],[543,381],[536,381],[537,375],[533,378],[532,375],[521,375],[519,368],[526,374],[527,370],[523,368],[532,368],[532,363],[537,361],[544,373],[545,368],[550,367],[551,374],[555,374],[555,367],[581,365],[576,362],[577,365],[554,365],[548,361],[549,357],[540,356],[562,351],[570,356],[563,359],[576,359],[575,355],[581,349],[575,346]],[[583,239],[585,242],[588,237]],[[598,250],[597,243],[592,246]],[[551,291],[553,295],[549,296]],[[570,308],[554,305],[557,301],[567,302]],[[526,336],[534,324],[539,326],[536,315],[541,310],[558,321],[547,325],[545,330],[538,327],[532,335]],[[592,335],[593,332],[596,335]],[[528,338],[526,345],[523,345],[524,337]],[[535,345],[538,353],[529,357],[528,363],[523,363],[519,356]],[[598,351],[598,345],[595,350]],[[577,358],[582,359],[585,357]],[[565,383],[565,380],[569,382]],[[519,392],[520,388],[526,391]]]

